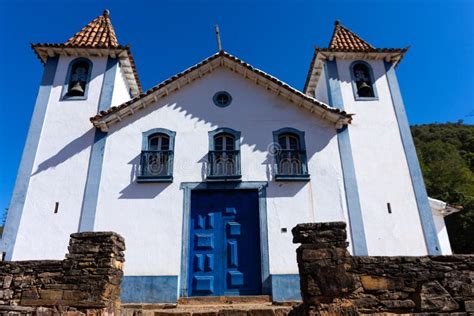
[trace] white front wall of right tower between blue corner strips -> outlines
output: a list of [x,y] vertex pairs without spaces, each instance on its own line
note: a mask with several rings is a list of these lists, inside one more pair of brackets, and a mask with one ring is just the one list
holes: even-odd
[[[413,186],[382,61],[370,61],[378,101],[355,101],[350,60],[338,60],[369,255],[426,255]],[[392,214],[387,211],[391,204]]]

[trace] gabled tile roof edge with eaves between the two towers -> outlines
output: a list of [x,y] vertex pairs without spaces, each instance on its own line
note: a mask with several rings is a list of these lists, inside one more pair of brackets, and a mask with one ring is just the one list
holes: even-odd
[[323,119],[335,123],[338,128],[349,124],[352,120],[351,114],[330,107],[313,97],[305,95],[283,81],[253,67],[225,51],[220,51],[204,59],[200,63],[166,79],[128,102],[101,111],[98,115],[91,117],[90,120],[95,127],[100,128],[102,131],[107,131],[111,124],[135,114],[137,111],[144,109],[148,105],[156,103],[158,99],[164,98],[170,93],[178,91],[183,86],[208,75],[220,67],[227,68],[240,74],[244,78],[262,86],[280,97],[287,99],[291,103],[294,103],[301,108],[305,108],[309,112],[314,113]]

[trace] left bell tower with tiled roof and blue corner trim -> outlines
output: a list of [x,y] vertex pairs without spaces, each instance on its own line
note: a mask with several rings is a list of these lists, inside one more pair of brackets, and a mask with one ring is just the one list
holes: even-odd
[[89,118],[141,92],[108,10],[65,43],[32,48],[44,73],[1,239],[6,260],[60,259],[71,232],[93,230],[107,135]]

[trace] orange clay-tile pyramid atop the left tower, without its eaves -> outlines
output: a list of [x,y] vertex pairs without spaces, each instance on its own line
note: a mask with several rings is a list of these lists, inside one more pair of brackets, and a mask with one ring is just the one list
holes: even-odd
[[119,47],[114,27],[110,21],[109,10],[104,10],[101,16],[92,20],[82,30],[68,39],[65,45],[91,48]]

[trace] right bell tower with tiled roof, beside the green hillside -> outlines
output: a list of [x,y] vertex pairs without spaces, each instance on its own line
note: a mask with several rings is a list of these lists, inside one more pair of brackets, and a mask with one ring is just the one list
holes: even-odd
[[395,72],[406,51],[375,48],[336,21],[305,85],[354,114],[338,144],[355,255],[441,253]]

